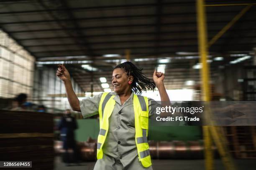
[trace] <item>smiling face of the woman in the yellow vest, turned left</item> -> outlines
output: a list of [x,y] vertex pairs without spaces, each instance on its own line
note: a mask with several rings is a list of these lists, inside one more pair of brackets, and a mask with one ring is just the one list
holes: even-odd
[[116,68],[113,70],[112,75],[112,85],[114,87],[114,91],[117,94],[122,94],[124,92],[128,92],[130,85],[128,84],[129,81],[132,82],[133,77],[127,75],[122,68]]

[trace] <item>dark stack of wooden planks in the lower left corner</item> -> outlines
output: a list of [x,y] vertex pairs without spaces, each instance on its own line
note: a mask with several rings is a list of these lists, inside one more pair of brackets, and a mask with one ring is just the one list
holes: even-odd
[[0,110],[0,124],[1,161],[32,161],[32,169],[53,169],[52,114]]

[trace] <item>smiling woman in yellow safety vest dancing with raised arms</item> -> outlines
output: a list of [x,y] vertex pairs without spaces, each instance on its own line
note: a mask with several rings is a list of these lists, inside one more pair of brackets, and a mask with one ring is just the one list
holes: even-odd
[[117,65],[112,74],[114,92],[105,92],[79,102],[68,70],[59,65],[56,75],[64,81],[69,104],[83,117],[100,116],[97,162],[94,170],[152,170],[147,142],[148,117],[156,102],[141,96],[142,91],[158,88],[161,101],[170,101],[164,87],[164,74],[154,71],[146,77],[132,62]]

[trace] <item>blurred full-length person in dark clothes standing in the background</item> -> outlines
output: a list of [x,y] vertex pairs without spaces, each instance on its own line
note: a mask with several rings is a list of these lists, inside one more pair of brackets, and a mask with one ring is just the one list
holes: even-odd
[[[69,166],[69,163],[71,163],[72,160],[74,163],[77,163],[78,155],[74,135],[74,130],[77,129],[77,121],[71,116],[69,109],[65,110],[64,117],[61,118],[58,128],[60,130],[61,140],[63,142],[63,149],[65,150],[63,155],[63,160],[66,163],[65,165]],[[68,153],[69,149],[73,150],[73,158],[71,158],[70,154]]]

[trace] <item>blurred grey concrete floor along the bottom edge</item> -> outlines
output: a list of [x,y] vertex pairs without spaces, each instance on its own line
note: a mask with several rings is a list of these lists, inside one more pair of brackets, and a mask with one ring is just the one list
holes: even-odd
[[[154,170],[204,170],[204,160],[153,160]],[[225,170],[221,160],[215,160],[215,170]],[[256,160],[235,160],[238,170],[255,170]],[[93,170],[95,162],[80,163],[80,166],[64,166],[60,157],[55,157],[54,170]]]

